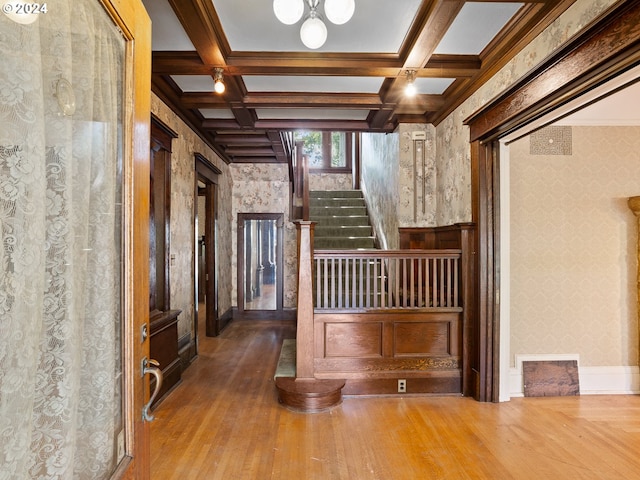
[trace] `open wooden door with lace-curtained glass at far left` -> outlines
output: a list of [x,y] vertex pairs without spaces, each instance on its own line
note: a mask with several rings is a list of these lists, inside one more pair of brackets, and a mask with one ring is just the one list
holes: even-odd
[[147,479],[150,19],[5,6],[0,477]]

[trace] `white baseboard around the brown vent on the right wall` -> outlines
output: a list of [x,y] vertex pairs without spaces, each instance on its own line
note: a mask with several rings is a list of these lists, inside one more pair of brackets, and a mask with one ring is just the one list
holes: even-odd
[[[510,397],[524,397],[523,361],[579,360],[578,354],[516,355],[516,367],[509,369]],[[640,393],[640,367],[585,367],[578,361],[580,395],[636,395]]]

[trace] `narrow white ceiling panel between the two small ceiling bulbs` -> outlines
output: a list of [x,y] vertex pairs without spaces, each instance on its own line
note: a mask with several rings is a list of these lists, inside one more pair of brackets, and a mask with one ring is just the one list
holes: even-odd
[[378,93],[384,78],[244,75],[249,92]]

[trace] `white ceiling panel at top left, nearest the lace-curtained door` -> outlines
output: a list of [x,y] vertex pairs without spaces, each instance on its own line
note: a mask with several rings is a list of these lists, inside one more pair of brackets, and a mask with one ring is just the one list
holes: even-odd
[[142,3],[151,18],[151,44],[154,51],[195,50],[167,0],[142,0]]

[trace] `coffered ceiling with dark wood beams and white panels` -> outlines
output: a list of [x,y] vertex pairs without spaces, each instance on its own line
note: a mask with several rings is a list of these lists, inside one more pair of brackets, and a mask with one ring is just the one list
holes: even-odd
[[271,0],[143,0],[152,89],[225,161],[286,162],[287,131],[437,125],[574,1],[356,0],[310,50]]

